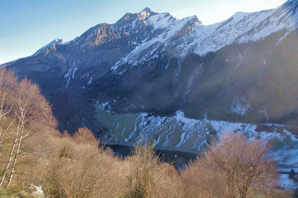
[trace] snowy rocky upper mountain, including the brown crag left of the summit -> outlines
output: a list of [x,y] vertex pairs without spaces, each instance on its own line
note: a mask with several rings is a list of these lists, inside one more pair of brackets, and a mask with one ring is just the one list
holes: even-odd
[[[90,28],[68,46],[97,46],[112,40],[124,40],[130,50],[115,59],[112,69],[133,66],[164,55],[184,59],[188,54],[205,55],[231,43],[255,42],[273,32],[297,29],[297,1],[289,0],[276,9],[237,12],[216,24],[204,25],[196,16],[181,20],[169,13],[155,13],[145,8],[140,13],[125,14],[114,24]],[[282,39],[282,38],[281,38]]]

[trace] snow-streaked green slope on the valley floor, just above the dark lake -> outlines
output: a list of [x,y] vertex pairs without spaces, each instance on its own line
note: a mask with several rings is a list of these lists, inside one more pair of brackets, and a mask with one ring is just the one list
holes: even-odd
[[[264,139],[273,144],[272,155],[282,166],[298,167],[298,136],[283,130],[277,132],[275,124],[272,132],[258,132],[254,124],[234,123],[228,121],[195,120],[186,118],[184,113],[177,111],[175,116],[151,116],[148,113],[119,115],[103,110],[108,103],[96,105],[97,119],[109,130],[104,140],[107,143],[134,144],[142,136],[149,140],[155,139],[155,147],[178,148],[201,152],[208,147],[213,138],[221,133],[239,132],[248,139]],[[264,125],[265,126],[265,125]]]

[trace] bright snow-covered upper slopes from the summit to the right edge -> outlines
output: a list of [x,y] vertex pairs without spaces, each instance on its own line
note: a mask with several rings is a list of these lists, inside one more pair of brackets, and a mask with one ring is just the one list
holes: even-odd
[[[135,19],[127,33],[137,32],[136,24],[141,22],[147,25],[151,32],[158,34],[148,35],[142,43],[134,43],[134,50],[121,58],[113,69],[127,63],[137,65],[162,56],[161,52],[169,49],[173,56],[183,59],[190,53],[205,55],[231,43],[254,42],[282,29],[287,30],[286,36],[298,27],[295,3],[297,4],[297,1],[288,1],[276,9],[259,12],[237,12],[230,18],[212,25],[202,24],[196,16],[178,20],[169,13],[150,14],[147,8],[139,13],[141,16],[146,12],[146,15],[143,15],[147,17]],[[114,26],[115,24],[112,25]]]

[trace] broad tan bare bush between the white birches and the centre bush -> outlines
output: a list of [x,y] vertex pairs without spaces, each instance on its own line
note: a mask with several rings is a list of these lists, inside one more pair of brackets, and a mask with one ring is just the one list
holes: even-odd
[[[57,142],[60,152],[47,169],[43,183],[51,198],[114,198],[122,193],[121,161],[110,149],[98,147],[82,135]],[[79,141],[78,141],[79,140]],[[90,143],[92,142],[92,143]],[[97,142],[97,141],[96,141]]]

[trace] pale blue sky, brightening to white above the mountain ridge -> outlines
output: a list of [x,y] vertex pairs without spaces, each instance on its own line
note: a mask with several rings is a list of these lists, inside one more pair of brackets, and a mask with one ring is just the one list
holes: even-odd
[[237,11],[276,8],[286,0],[0,0],[0,64],[31,56],[55,38],[69,41],[99,23],[115,23],[145,7],[205,24]]

